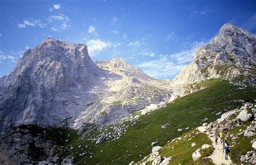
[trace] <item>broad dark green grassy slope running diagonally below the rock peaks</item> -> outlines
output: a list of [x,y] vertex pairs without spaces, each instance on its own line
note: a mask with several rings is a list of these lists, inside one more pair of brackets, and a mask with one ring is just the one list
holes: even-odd
[[[220,115],[216,115],[219,111],[224,112],[241,106],[240,102],[231,100],[253,101],[256,98],[256,90],[250,87],[245,90],[235,90],[235,87],[226,81],[210,80],[209,82],[211,87],[179,98],[164,109],[140,117],[137,124],[127,128],[126,134],[118,140],[106,140],[95,146],[92,142],[82,139],[81,135],[73,137],[73,140],[66,144],[67,148],[63,156],[75,156],[75,163],[88,164],[129,164],[132,160],[139,161],[150,154],[151,142],[157,140],[159,146],[164,146],[167,141],[179,137],[192,128],[219,118]],[[205,118],[208,120],[203,121]],[[170,125],[165,130],[162,129],[161,126],[167,122]],[[185,130],[186,127],[190,129]],[[178,132],[178,128],[183,128],[183,131]],[[79,145],[81,147],[78,147]],[[93,159],[90,158],[91,154],[79,156],[83,153],[82,150],[93,153]]]

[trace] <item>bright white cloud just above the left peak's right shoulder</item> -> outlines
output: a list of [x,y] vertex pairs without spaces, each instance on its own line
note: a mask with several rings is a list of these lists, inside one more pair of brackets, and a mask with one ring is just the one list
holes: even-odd
[[103,51],[103,49],[112,47],[112,42],[103,41],[100,39],[91,39],[86,42],[88,52],[90,56],[97,55],[99,52]]

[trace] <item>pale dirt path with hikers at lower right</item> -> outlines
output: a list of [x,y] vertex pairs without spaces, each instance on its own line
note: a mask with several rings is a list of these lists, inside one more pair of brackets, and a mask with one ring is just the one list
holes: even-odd
[[214,142],[213,134],[206,131],[206,127],[201,126],[198,127],[198,130],[202,133],[205,133],[208,135],[208,137],[212,140],[212,146],[214,147],[213,153],[211,156],[209,156],[214,164],[232,164],[232,161],[230,159],[230,156],[228,156],[228,160],[225,160],[225,155],[223,153],[223,145],[218,140],[218,144],[216,145]]

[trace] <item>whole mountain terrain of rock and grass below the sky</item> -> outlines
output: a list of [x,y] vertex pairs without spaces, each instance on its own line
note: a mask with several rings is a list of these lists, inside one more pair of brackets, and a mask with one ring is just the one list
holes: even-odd
[[0,78],[0,163],[255,163],[255,77],[256,35],[232,24],[173,80],[46,38]]

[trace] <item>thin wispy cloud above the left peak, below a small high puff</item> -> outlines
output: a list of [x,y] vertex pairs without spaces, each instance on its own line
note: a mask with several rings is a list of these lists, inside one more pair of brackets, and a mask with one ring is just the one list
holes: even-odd
[[69,17],[63,14],[51,15],[47,20],[52,31],[66,30],[71,25],[69,23]]

